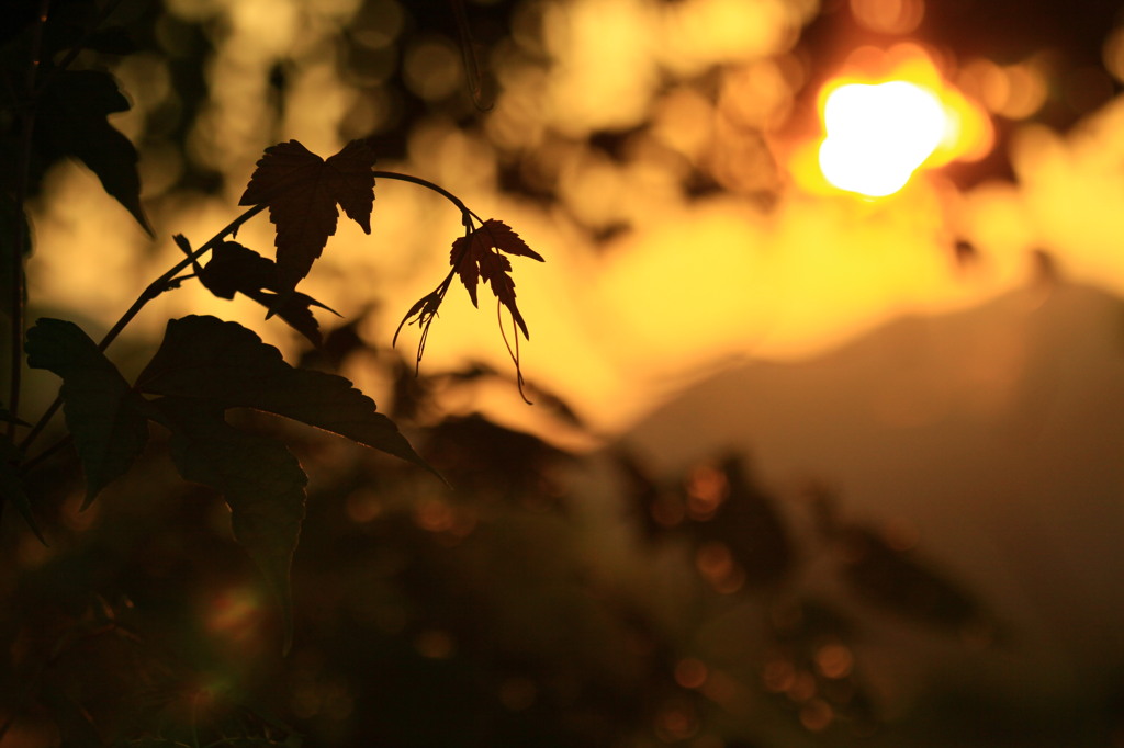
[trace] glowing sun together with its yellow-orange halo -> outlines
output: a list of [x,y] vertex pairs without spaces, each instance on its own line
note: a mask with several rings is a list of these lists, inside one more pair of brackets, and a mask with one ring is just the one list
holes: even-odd
[[823,138],[794,174],[816,192],[882,198],[919,170],[976,161],[992,145],[990,121],[914,44],[862,47],[819,93]]

